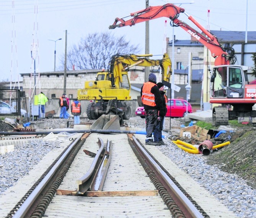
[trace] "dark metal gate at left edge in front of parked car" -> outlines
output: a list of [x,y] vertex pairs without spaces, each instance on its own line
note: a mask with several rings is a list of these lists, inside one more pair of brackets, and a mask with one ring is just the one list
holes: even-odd
[[20,90],[0,89],[0,115],[21,115]]

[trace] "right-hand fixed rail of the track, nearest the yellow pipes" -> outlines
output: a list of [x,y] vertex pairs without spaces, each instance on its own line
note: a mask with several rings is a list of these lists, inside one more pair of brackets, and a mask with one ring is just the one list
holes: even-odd
[[183,213],[186,217],[203,218],[204,216],[197,210],[192,202],[183,194],[183,192],[176,186],[176,184],[169,178],[168,175],[161,169],[161,167],[150,157],[150,155],[143,149],[135,136],[132,136],[137,150],[140,154],[147,159],[147,163],[152,170],[161,177],[161,181],[164,181],[165,188],[171,194],[176,204],[183,209]]

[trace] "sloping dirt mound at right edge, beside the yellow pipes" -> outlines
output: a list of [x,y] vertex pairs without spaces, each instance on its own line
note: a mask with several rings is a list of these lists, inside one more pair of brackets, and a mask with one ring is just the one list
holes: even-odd
[[207,156],[208,163],[217,164],[225,172],[237,174],[256,188],[255,135],[255,127],[239,128],[233,133],[230,145]]

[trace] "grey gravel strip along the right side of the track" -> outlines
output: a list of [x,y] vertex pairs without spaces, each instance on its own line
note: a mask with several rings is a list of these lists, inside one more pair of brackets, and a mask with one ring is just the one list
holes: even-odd
[[[179,168],[188,173],[238,217],[256,217],[256,189],[235,174],[220,170],[217,165],[208,165],[202,155],[189,154],[179,149],[170,139],[159,149]],[[200,191],[200,190],[199,190]]]

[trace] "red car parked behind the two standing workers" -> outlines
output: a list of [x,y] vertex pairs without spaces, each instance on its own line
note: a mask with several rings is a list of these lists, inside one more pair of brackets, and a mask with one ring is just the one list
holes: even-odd
[[[188,114],[192,113],[192,106],[186,100],[168,99],[166,117],[184,117],[187,114],[187,104]],[[137,107],[135,115],[145,118],[144,107]]]

